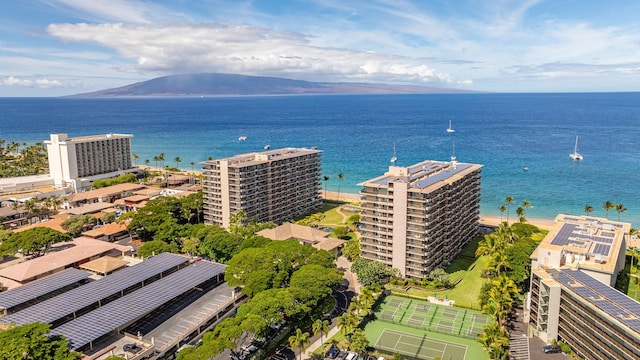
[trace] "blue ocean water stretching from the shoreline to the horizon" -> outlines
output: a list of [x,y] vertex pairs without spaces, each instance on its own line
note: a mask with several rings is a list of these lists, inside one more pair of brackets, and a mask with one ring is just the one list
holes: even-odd
[[[586,204],[604,216],[612,201],[628,209],[621,220],[640,224],[640,93],[0,98],[0,118],[0,139],[129,133],[141,164],[165,153],[185,169],[266,144],[317,146],[328,189],[350,193],[388,169],[394,144],[401,166],[448,160],[455,148],[458,161],[484,165],[483,213],[500,215],[507,195],[529,200],[530,218],[583,214]],[[581,162],[568,156],[576,136]]]

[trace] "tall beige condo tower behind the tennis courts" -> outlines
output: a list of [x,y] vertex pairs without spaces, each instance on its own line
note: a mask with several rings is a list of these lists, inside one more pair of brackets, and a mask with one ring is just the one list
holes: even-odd
[[360,183],[361,256],[422,278],[478,234],[482,165],[423,161]]

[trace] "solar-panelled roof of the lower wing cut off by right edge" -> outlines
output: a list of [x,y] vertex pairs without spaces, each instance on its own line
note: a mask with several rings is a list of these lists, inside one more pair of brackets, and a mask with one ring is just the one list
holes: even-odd
[[[564,287],[579,294],[584,300],[597,306],[610,317],[640,333],[640,319],[638,319],[640,302],[580,270],[550,269],[548,272]],[[576,283],[581,286],[575,286]]]

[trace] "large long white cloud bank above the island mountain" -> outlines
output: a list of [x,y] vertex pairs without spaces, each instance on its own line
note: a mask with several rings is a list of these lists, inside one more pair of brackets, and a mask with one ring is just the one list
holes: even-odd
[[424,61],[367,51],[319,47],[309,38],[251,26],[219,24],[53,24],[64,41],[95,42],[135,60],[140,71],[226,72],[309,80],[390,78],[449,84],[455,80]]

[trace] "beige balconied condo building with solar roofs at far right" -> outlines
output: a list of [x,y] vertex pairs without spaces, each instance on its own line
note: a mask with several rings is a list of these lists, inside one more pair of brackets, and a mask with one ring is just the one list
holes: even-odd
[[558,215],[531,254],[530,333],[582,359],[640,359],[640,303],[612,286],[631,225]]

